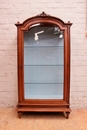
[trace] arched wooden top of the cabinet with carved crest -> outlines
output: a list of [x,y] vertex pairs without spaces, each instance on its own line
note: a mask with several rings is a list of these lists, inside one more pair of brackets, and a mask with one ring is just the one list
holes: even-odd
[[67,23],[64,23],[64,21],[62,21],[61,19],[54,16],[50,16],[46,14],[45,12],[42,12],[41,14],[36,15],[34,17],[28,18],[23,23],[17,22],[15,25],[17,27],[22,28],[22,30],[28,30],[30,26],[34,24],[38,24],[38,23],[53,24],[55,26],[58,26],[60,29],[64,29],[65,27],[72,25],[70,21],[68,21]]

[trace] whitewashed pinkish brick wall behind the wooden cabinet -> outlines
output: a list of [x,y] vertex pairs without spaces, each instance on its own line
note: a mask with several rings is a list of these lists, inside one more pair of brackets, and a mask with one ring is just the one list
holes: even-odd
[[71,107],[87,107],[86,0],[0,0],[0,107],[17,104],[17,21],[45,11],[71,21]]

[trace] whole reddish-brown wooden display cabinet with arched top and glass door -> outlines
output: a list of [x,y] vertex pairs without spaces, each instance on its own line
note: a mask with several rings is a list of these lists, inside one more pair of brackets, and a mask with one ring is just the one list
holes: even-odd
[[17,26],[18,117],[64,112],[70,104],[70,26],[44,12]]

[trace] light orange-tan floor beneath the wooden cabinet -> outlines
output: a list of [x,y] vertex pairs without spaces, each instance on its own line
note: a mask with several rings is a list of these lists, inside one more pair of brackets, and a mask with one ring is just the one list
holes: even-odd
[[87,130],[87,109],[75,109],[66,119],[63,113],[24,113],[0,108],[0,130]]

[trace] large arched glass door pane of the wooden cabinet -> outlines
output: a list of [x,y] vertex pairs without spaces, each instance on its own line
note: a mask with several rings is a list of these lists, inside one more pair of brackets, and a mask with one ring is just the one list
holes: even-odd
[[64,40],[56,26],[24,32],[24,98],[63,99]]

